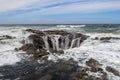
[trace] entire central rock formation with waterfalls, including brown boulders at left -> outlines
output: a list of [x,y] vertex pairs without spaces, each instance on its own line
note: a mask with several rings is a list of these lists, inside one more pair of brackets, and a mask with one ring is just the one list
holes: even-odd
[[23,45],[20,50],[38,57],[47,55],[48,52],[62,54],[65,49],[79,47],[88,38],[88,36],[80,33],[69,33],[63,30],[39,31],[27,29],[26,31],[33,33],[28,37],[32,43]]

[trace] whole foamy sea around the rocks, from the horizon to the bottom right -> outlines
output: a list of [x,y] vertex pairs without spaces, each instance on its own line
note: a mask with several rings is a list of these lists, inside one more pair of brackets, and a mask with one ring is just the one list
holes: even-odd
[[[15,65],[29,57],[25,52],[16,52],[14,49],[21,47],[23,39],[29,42],[27,37],[30,33],[23,32],[26,29],[35,30],[65,30],[68,32],[82,33],[90,36],[80,47],[65,50],[66,54],[49,55],[48,59],[56,61],[59,59],[73,58],[78,64],[80,58],[94,58],[104,65],[114,66],[120,72],[120,24],[82,24],[82,25],[0,25],[0,80],[9,79],[9,76],[3,71],[6,65]],[[4,36],[16,37],[15,39],[4,39]],[[98,40],[94,40],[95,38]],[[101,38],[110,38],[109,40],[100,40]],[[81,54],[78,54],[81,53]],[[83,55],[83,53],[86,53]],[[103,68],[106,66],[103,66]],[[9,69],[9,68],[8,68]],[[21,69],[21,68],[19,68]],[[18,70],[18,69],[17,69]],[[8,70],[9,73],[10,70]],[[13,79],[13,78],[12,78]],[[11,80],[11,79],[10,79]],[[16,79],[17,80],[17,79]],[[18,79],[19,80],[19,79]],[[109,80],[120,80],[120,77],[109,73]]]

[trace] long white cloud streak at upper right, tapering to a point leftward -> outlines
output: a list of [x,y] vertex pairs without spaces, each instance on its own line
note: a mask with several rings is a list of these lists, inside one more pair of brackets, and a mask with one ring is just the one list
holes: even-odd
[[39,13],[43,15],[50,14],[65,14],[65,13],[88,13],[120,10],[120,1],[95,1],[95,2],[80,2],[69,5],[56,6],[52,8],[45,8]]

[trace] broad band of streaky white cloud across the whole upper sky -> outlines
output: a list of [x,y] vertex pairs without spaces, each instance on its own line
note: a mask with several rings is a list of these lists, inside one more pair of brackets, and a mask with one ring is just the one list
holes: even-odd
[[0,14],[43,16],[112,10],[120,10],[120,0],[0,0]]

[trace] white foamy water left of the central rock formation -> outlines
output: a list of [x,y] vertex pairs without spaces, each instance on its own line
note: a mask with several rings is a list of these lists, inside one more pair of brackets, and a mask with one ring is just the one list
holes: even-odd
[[15,48],[21,47],[23,44],[21,43],[22,40],[25,40],[25,43],[29,43],[30,41],[27,37],[30,33],[26,33],[21,29],[1,29],[0,28],[0,36],[8,35],[11,37],[15,37],[14,39],[3,39],[0,40],[0,66],[3,65],[12,65],[16,62],[19,62],[23,59],[21,55],[22,51],[16,52]]

